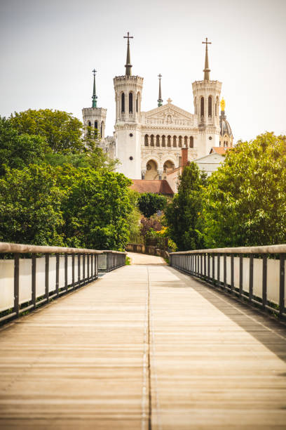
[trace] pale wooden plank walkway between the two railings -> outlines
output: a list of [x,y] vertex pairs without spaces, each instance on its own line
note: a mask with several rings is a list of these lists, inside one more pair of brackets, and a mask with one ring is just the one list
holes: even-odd
[[285,328],[138,258],[1,328],[0,429],[285,429]]

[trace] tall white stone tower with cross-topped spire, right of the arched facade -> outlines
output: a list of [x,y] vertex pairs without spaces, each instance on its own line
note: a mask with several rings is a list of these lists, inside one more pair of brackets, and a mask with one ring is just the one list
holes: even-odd
[[212,146],[219,146],[219,98],[222,82],[210,80],[210,68],[207,45],[205,41],[205,69],[203,81],[193,82],[193,104],[198,117],[198,157],[209,154]]

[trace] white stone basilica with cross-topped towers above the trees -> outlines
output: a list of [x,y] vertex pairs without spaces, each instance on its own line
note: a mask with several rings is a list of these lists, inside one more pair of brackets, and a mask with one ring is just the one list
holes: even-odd
[[[114,136],[105,137],[107,109],[97,107],[95,70],[93,70],[93,103],[84,107],[83,124],[98,130],[99,145],[109,157],[117,158],[117,171],[133,180],[163,180],[182,165],[182,152],[187,161],[205,160],[207,155],[231,148],[233,135],[226,120],[224,100],[220,100],[222,82],[210,79],[207,45],[203,80],[193,88],[194,113],[172,104],[163,103],[161,74],[158,106],[142,112],[143,77],[132,75],[130,39],[127,39],[125,74],[114,77],[116,118]],[[219,107],[221,114],[219,115]],[[187,148],[187,151],[182,151]],[[221,148],[220,151],[215,148]]]

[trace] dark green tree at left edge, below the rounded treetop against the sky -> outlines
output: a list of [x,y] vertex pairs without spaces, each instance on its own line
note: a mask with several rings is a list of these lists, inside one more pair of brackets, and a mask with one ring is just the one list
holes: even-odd
[[46,150],[41,136],[19,135],[8,119],[0,117],[0,175],[5,173],[4,165],[23,169],[30,163],[43,161]]

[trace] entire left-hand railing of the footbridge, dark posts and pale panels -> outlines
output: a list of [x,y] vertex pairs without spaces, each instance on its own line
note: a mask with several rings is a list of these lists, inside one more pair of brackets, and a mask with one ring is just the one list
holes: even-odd
[[[98,278],[102,254],[107,270],[125,264],[125,252],[40,247],[0,242],[0,322],[57,299]],[[20,258],[21,256],[27,258]],[[41,256],[39,256],[41,255]],[[43,256],[42,256],[43,255]]]

